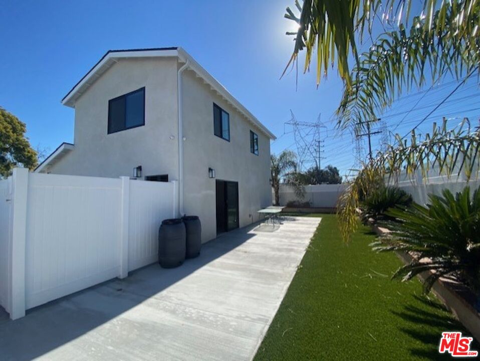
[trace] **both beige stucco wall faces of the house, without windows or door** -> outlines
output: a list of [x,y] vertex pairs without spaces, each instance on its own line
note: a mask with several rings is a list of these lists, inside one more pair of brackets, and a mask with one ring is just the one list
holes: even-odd
[[[75,148],[46,170],[118,177],[168,174],[178,179],[176,58],[122,59],[77,100]],[[107,134],[108,100],[145,87],[145,125]],[[230,115],[230,142],[213,134],[213,102]],[[250,152],[250,129],[259,155]],[[238,182],[239,226],[272,205],[270,139],[191,70],[183,73],[184,213],[202,223],[202,242],[216,237],[215,179]],[[173,135],[174,139],[170,139]],[[216,178],[208,177],[208,167]]]

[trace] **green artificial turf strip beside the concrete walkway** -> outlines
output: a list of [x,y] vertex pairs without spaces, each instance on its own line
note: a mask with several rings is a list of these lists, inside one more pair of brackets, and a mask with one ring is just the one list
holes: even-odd
[[[390,276],[401,265],[375,253],[366,227],[349,244],[335,215],[322,217],[257,355],[260,360],[452,359],[438,353],[441,332],[470,335],[415,278]],[[471,349],[480,350],[478,344]]]

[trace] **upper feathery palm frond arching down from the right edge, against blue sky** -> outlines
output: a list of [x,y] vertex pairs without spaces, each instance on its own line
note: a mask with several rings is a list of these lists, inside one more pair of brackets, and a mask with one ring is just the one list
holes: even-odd
[[[480,3],[446,4],[431,19],[414,18],[409,30],[400,25],[380,35],[361,55],[352,71],[352,86],[345,87],[337,109],[340,127],[376,119],[399,95],[421,88],[427,80],[448,74],[465,81],[478,72]],[[462,24],[459,14],[463,14]]]

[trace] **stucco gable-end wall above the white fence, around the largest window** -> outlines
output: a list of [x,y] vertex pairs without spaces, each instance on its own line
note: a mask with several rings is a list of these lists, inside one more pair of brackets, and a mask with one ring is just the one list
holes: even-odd
[[[51,173],[178,176],[176,58],[122,59],[75,104],[75,148]],[[109,99],[145,87],[145,125],[107,134]],[[174,135],[174,139],[170,139]]]

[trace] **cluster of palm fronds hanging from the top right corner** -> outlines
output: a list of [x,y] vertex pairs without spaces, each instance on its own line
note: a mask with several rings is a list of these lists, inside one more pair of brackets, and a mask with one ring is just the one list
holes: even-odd
[[[423,86],[450,73],[463,81],[478,74],[480,2],[424,0],[412,14],[412,0],[305,0],[296,16],[286,18],[299,30],[290,64],[306,51],[304,71],[316,62],[317,85],[329,64],[337,62],[345,82],[337,109],[340,127],[376,119],[403,91]],[[372,28],[384,31],[373,39]],[[371,46],[359,54],[368,36]],[[314,51],[316,49],[316,56]],[[353,67],[349,63],[353,58]],[[351,70],[352,68],[352,70]]]

